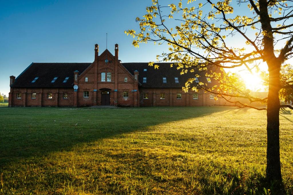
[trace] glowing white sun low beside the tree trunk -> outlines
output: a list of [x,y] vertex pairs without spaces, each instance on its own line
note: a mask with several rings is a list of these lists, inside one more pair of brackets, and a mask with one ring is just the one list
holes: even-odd
[[263,80],[258,74],[241,73],[240,75],[248,89],[252,91],[264,90],[265,86],[263,85]]

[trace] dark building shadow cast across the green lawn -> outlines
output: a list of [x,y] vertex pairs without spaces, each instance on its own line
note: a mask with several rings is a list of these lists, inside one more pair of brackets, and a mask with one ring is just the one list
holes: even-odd
[[88,143],[148,126],[202,117],[227,108],[149,107],[93,108],[0,108],[0,165],[11,161],[71,150]]

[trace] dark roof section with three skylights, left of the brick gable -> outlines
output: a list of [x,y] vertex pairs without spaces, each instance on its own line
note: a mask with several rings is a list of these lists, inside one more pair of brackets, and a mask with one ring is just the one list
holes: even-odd
[[[32,63],[15,80],[12,87],[72,87],[74,71],[82,73],[91,63]],[[39,77],[32,83],[35,77]],[[58,77],[51,83],[54,77]],[[64,79],[69,77],[66,83]]]

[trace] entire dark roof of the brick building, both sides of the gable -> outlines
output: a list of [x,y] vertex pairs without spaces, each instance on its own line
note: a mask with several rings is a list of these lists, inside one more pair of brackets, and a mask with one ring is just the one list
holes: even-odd
[[[194,73],[186,73],[180,75],[180,70],[176,66],[170,67],[171,63],[155,63],[159,65],[159,69],[149,66],[148,63],[122,63],[122,65],[133,75],[134,71],[139,72],[139,83],[142,87],[151,88],[181,88],[185,86],[188,78],[194,78],[195,74],[202,77],[199,81],[207,83],[205,72],[195,71]],[[84,72],[91,63],[32,63],[25,69],[15,80],[12,87],[72,87],[74,83],[74,71]],[[144,71],[147,69],[147,71]],[[39,77],[34,83],[35,77]],[[51,83],[54,77],[58,77],[54,83]],[[66,83],[64,79],[69,77]],[[143,78],[147,78],[147,82],[143,82]],[[163,83],[163,77],[166,77],[167,83]],[[175,77],[178,77],[179,83],[175,83]],[[215,84],[212,80],[211,85]]]

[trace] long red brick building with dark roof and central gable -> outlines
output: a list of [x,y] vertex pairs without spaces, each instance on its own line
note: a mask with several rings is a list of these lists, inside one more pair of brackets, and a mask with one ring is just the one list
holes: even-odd
[[[191,73],[180,75],[171,63],[122,63],[107,49],[93,63],[32,63],[17,78],[10,76],[9,106],[205,106],[214,104],[207,93],[184,93]],[[197,73],[204,80],[205,73]],[[198,82],[198,80],[197,80]],[[202,81],[202,82],[207,82]],[[208,85],[215,83],[211,81]]]

